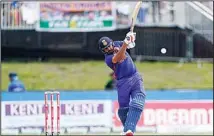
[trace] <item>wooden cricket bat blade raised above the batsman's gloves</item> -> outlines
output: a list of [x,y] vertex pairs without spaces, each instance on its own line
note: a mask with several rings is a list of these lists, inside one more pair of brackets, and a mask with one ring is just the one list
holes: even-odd
[[133,30],[134,30],[135,22],[136,22],[137,15],[138,15],[138,12],[140,10],[141,4],[142,4],[142,1],[137,2],[137,4],[135,5],[134,10],[132,12],[132,16],[131,16],[131,28],[130,28],[131,32],[133,32]]

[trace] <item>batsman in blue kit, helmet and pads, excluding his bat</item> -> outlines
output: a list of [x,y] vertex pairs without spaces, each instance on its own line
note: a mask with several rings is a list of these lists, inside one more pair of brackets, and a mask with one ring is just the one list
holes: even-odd
[[136,33],[129,32],[123,41],[113,41],[109,37],[100,38],[99,49],[105,55],[105,62],[116,77],[118,91],[118,116],[123,124],[123,133],[133,136],[145,104],[143,79],[126,51],[135,47]]

